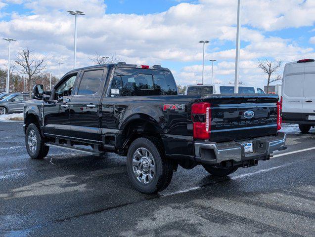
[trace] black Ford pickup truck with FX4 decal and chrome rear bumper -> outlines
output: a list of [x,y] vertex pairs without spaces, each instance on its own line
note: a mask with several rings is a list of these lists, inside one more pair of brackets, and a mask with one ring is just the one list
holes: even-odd
[[178,165],[225,176],[286,149],[276,95],[178,95],[159,65],[76,69],[51,91],[34,86],[32,96],[24,106],[31,158],[49,147],[127,156],[132,184],[147,194],[165,189]]

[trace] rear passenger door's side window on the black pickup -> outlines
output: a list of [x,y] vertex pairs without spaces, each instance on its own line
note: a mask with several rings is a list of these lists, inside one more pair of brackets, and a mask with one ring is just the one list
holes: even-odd
[[104,70],[95,70],[84,72],[81,79],[78,95],[93,95],[100,86]]

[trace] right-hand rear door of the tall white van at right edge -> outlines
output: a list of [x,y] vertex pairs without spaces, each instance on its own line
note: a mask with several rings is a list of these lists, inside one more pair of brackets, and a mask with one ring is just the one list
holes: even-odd
[[304,75],[302,120],[315,123],[315,73]]

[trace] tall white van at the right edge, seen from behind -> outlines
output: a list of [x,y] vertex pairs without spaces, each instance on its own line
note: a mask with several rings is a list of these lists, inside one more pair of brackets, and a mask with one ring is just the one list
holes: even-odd
[[315,126],[315,60],[287,63],[282,77],[282,120],[302,132]]

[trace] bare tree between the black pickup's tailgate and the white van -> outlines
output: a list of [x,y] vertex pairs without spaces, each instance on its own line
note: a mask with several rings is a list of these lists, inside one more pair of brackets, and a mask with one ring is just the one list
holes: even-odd
[[[260,68],[264,74],[267,74],[267,93],[269,92],[269,85],[274,81],[281,80],[281,76],[277,74],[282,62],[280,60],[270,61],[264,59],[258,62],[258,68]],[[277,75],[274,75],[277,74]]]

